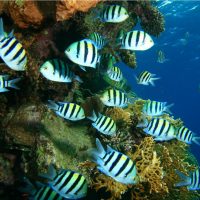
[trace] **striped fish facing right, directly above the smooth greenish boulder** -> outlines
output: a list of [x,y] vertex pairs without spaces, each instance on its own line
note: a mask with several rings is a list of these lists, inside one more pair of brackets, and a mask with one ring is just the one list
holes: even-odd
[[57,115],[71,121],[78,121],[85,118],[84,110],[75,103],[48,101],[48,108],[55,111]]

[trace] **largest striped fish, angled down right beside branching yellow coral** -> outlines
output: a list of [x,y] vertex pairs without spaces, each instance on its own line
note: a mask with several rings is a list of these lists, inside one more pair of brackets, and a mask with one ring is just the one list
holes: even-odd
[[138,181],[135,162],[128,156],[107,146],[105,151],[101,142],[96,139],[97,149],[91,150],[92,160],[98,169],[123,184],[136,184]]

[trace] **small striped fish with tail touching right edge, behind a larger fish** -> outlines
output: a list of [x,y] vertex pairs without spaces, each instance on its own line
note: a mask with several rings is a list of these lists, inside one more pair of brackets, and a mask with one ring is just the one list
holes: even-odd
[[191,130],[185,126],[181,126],[177,130],[176,138],[182,142],[185,142],[186,144],[192,144],[192,142],[194,142],[195,144],[200,145],[200,137],[196,137],[194,135],[195,133],[193,133]]

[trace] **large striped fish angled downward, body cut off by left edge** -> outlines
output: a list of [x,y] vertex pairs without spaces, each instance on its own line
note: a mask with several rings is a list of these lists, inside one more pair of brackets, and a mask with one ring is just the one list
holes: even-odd
[[24,71],[27,64],[26,51],[12,32],[5,37],[3,21],[0,18],[0,57],[8,67],[16,71]]

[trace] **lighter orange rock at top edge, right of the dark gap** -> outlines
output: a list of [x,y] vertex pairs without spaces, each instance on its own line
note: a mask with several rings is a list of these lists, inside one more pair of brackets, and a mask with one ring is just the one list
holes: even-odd
[[72,17],[77,11],[87,12],[95,7],[100,0],[64,0],[56,4],[56,21],[63,21]]

